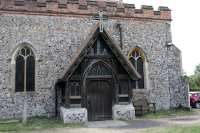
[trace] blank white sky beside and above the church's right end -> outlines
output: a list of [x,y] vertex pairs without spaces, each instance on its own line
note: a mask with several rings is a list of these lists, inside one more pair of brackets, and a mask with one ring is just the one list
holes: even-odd
[[200,11],[198,0],[123,0],[124,3],[151,5],[154,10],[167,6],[172,11],[172,43],[182,51],[182,68],[187,75],[194,74],[196,65],[200,64]]

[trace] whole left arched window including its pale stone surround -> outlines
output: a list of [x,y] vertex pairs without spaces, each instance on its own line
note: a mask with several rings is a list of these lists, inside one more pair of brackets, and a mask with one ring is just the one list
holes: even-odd
[[18,45],[11,57],[13,92],[37,91],[38,54],[32,45]]

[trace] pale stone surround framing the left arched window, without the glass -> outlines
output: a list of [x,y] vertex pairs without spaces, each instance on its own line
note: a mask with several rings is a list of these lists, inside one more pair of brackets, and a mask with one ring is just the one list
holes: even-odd
[[37,90],[38,90],[38,62],[39,62],[39,55],[36,51],[36,49],[28,43],[21,43],[19,45],[17,45],[15,47],[15,49],[12,52],[12,56],[11,56],[11,69],[12,69],[12,77],[11,77],[11,87],[12,87],[12,92],[13,94],[20,94],[20,93],[24,93],[24,92],[15,92],[15,74],[16,74],[16,57],[18,55],[18,51],[20,49],[22,49],[23,47],[27,47],[29,48],[34,55],[34,59],[35,59],[35,91],[32,92],[26,92],[27,94],[36,94]]

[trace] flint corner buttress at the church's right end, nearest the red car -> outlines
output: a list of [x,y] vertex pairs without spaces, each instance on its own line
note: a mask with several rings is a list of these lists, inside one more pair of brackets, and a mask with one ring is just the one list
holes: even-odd
[[181,51],[174,45],[168,48],[170,107],[190,107],[189,82],[182,76]]

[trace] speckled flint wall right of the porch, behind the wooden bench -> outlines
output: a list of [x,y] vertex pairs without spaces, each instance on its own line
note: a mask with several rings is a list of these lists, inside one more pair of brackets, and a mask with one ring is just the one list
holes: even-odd
[[[117,20],[104,21],[104,23],[119,44]],[[149,102],[156,103],[158,110],[169,109],[166,22],[122,21],[121,27],[124,53],[128,55],[129,51],[137,46],[147,57],[145,88],[133,90],[133,98],[147,98]]]

